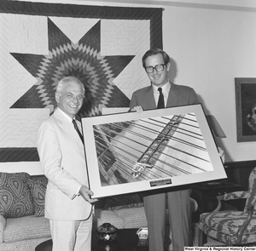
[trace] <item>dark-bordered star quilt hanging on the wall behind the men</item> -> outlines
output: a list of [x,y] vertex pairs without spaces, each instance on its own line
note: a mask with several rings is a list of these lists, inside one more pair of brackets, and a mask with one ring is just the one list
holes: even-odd
[[162,9],[0,3],[0,162],[38,161],[36,134],[54,111],[62,77],[84,84],[80,117],[128,107],[148,85],[142,66],[162,48]]

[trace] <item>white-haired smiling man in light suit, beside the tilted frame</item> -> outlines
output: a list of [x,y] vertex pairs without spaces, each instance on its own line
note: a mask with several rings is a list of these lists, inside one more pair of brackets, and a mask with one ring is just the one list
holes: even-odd
[[[63,77],[57,85],[57,108],[38,128],[38,154],[48,178],[45,217],[53,251],[90,250],[93,192],[88,188],[84,145],[73,125],[84,100],[84,85]],[[81,125],[76,121],[80,131]]]

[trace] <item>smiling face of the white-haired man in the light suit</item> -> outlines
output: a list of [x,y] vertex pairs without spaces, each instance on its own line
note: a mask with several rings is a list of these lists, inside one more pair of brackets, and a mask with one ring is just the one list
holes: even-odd
[[84,89],[79,83],[66,83],[62,88],[61,94],[56,93],[55,99],[58,107],[73,118],[83,106]]

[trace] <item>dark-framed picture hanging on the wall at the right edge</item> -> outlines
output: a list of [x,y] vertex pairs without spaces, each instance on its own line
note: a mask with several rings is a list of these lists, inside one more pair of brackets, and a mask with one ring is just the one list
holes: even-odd
[[256,141],[256,77],[236,77],[237,142]]

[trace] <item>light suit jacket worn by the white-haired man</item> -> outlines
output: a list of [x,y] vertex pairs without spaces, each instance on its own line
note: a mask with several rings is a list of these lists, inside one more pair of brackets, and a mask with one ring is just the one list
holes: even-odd
[[45,217],[50,220],[86,220],[91,205],[75,196],[88,187],[84,145],[73,123],[57,108],[38,128],[38,154],[48,178]]

